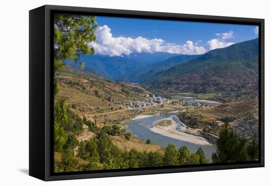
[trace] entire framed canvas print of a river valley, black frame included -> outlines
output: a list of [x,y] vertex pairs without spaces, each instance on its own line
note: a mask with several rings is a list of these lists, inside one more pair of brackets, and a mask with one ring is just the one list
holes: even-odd
[[264,166],[264,19],[30,10],[29,174]]

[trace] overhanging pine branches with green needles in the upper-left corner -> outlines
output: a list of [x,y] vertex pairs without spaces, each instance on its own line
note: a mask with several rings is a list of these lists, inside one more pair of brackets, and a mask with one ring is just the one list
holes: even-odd
[[80,54],[94,54],[88,43],[95,41],[98,27],[95,16],[55,14],[54,16],[54,67],[62,71],[62,60],[79,62]]

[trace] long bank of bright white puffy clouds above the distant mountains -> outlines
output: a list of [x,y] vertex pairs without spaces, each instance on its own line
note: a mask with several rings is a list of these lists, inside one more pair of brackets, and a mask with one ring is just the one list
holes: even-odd
[[109,56],[129,55],[133,52],[169,52],[174,54],[203,54],[206,52],[204,47],[196,46],[188,40],[183,45],[166,43],[163,39],[147,39],[144,37],[113,37],[111,29],[104,25],[96,31],[96,41],[89,45],[95,48],[96,53]]

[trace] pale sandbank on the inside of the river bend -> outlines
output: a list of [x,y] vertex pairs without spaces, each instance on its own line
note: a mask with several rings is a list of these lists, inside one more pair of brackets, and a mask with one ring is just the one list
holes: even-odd
[[[185,127],[181,127],[181,125],[177,123],[177,121],[174,120],[173,117],[174,116],[171,116],[169,118],[165,118],[162,120],[158,120],[157,122],[154,123],[153,127],[151,127],[150,130],[152,130],[155,133],[161,134],[163,136],[178,139],[181,141],[190,142],[197,145],[212,146],[212,144],[207,142],[205,138],[199,136],[198,131],[196,130],[191,131],[193,129],[186,129]],[[171,124],[167,124],[163,126],[161,125],[163,120],[167,121],[167,123],[170,121]],[[160,123],[160,124],[158,125],[157,123]]]

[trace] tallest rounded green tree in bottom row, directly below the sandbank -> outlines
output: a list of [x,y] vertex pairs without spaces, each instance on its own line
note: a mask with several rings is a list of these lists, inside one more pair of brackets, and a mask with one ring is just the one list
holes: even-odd
[[176,150],[173,144],[170,144],[166,147],[166,152],[163,157],[163,165],[170,166],[170,165],[178,165],[178,151]]

